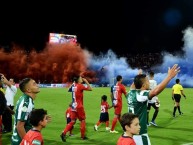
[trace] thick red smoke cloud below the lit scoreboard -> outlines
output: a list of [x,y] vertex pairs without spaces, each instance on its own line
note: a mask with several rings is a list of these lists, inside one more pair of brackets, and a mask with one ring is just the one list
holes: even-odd
[[14,45],[12,51],[0,50],[0,73],[19,81],[32,77],[41,83],[65,83],[74,75],[94,82],[95,72],[87,70],[88,53],[73,43],[47,44],[42,52],[25,51]]

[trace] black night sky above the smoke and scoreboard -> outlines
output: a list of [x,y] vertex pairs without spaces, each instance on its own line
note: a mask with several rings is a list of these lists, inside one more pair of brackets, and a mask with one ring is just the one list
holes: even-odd
[[[26,6],[23,6],[26,5]],[[99,54],[174,52],[183,46],[182,31],[193,25],[192,0],[120,0],[2,6],[0,45],[11,42],[42,50],[50,32],[77,35]]]

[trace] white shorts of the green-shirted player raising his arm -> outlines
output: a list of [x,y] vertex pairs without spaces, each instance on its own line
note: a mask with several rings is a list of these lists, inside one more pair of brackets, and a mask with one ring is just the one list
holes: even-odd
[[134,135],[133,139],[136,145],[151,145],[148,134]]

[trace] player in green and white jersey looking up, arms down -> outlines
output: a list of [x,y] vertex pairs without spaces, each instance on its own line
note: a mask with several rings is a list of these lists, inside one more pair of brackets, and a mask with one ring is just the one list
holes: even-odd
[[28,115],[34,108],[33,100],[36,98],[36,94],[40,92],[38,84],[31,78],[23,79],[19,84],[19,88],[23,95],[16,104],[11,138],[12,145],[19,145],[26,132],[32,128]]

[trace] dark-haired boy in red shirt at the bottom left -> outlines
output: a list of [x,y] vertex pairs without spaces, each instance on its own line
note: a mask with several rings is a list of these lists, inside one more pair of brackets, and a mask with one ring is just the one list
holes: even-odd
[[29,115],[33,128],[29,130],[20,145],[43,145],[41,130],[47,125],[47,111],[44,109],[34,109]]

